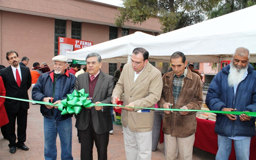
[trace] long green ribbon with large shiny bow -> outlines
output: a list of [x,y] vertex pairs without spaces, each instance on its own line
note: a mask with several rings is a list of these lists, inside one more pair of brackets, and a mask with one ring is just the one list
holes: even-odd
[[[61,115],[68,114],[68,113],[79,114],[83,107],[84,108],[94,107],[94,106],[126,107],[126,106],[106,104],[106,103],[99,103],[95,105],[94,103],[92,103],[91,100],[87,100],[87,97],[89,96],[89,94],[84,92],[85,92],[84,89],[81,89],[79,91],[74,90],[73,93],[67,94],[67,99],[61,100],[61,103],[57,103],[57,104],[43,102],[43,101],[36,101],[36,100],[25,100],[20,98],[5,97],[5,96],[0,96],[0,97],[12,99],[12,100],[34,102],[34,103],[43,104],[43,105],[58,106],[58,109],[61,111]],[[235,114],[235,115],[246,114],[251,117],[256,117],[256,112],[206,111],[206,110],[194,110],[194,109],[174,109],[174,108],[167,109],[167,108],[144,108],[144,107],[130,107],[130,108],[162,110],[162,111],[206,112],[206,113],[221,113],[221,114]]]

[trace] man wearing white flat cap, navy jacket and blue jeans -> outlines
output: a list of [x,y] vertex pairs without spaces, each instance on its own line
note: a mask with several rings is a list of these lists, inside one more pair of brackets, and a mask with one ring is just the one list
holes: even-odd
[[[53,58],[54,70],[42,74],[33,90],[32,99],[54,104],[61,103],[74,90],[75,76],[67,72],[67,56]],[[61,115],[58,107],[41,105],[44,116],[45,160],[57,159],[56,138],[61,140],[61,160],[73,160],[72,156],[72,114]]]

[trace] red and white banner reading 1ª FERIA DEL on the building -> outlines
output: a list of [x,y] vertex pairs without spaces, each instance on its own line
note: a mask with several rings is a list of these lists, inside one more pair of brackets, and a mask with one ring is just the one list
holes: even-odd
[[93,42],[86,41],[86,40],[76,40],[71,38],[59,37],[58,54],[66,55],[67,51],[72,52],[81,48],[90,47],[92,45],[93,45]]

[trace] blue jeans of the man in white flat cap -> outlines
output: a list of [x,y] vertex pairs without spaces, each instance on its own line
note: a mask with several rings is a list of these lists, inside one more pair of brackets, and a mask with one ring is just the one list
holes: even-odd
[[55,121],[44,117],[44,157],[45,160],[57,159],[56,138],[61,140],[61,160],[73,160],[72,156],[72,119]]

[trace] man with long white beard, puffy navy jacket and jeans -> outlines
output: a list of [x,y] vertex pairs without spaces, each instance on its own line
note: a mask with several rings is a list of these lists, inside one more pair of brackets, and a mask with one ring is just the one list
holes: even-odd
[[[256,71],[249,64],[249,50],[239,47],[231,63],[212,80],[206,100],[210,110],[256,112]],[[228,160],[232,140],[236,160],[249,160],[250,140],[255,136],[255,118],[246,114],[217,114],[216,160]]]

